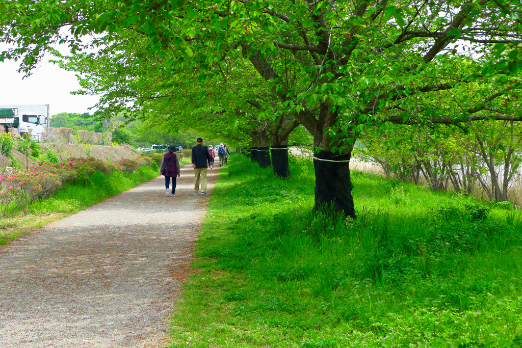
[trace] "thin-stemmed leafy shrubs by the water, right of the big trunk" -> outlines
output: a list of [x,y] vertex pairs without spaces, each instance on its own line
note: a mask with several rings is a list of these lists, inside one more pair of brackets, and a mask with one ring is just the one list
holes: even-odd
[[[365,134],[354,153],[385,174],[433,190],[507,201],[522,165],[522,125],[483,122],[457,129],[402,127],[391,137]],[[520,202],[516,202],[520,203]]]

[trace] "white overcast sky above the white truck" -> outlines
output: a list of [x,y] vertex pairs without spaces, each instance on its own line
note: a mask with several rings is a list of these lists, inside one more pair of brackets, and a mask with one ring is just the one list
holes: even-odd
[[[0,44],[0,50],[5,47],[5,44]],[[0,63],[0,105],[49,104],[51,115],[61,112],[88,112],[92,115],[96,109],[88,108],[94,106],[99,97],[70,94],[80,89],[75,73],[60,69],[48,58],[49,55],[46,55],[38,69],[23,80],[23,74],[16,72],[19,61]]]

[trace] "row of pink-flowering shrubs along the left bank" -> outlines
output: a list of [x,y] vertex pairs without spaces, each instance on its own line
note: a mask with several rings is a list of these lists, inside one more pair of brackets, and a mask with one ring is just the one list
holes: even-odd
[[71,158],[66,162],[41,161],[27,172],[0,174],[0,211],[5,217],[12,209],[27,209],[32,203],[50,197],[66,183],[85,180],[99,171],[132,173],[138,170],[137,160],[121,159],[119,162],[94,158]]

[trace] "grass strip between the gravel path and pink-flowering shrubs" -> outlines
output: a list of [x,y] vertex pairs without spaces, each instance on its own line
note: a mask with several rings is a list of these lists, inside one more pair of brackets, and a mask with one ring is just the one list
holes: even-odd
[[151,163],[132,173],[121,170],[84,173],[65,183],[53,196],[35,201],[27,207],[26,215],[12,211],[8,217],[0,219],[0,245],[149,181],[159,175],[158,167],[157,163]]

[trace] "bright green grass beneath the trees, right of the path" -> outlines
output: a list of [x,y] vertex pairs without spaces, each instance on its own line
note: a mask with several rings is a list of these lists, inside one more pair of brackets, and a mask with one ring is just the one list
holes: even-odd
[[519,214],[352,172],[345,222],[291,171],[221,169],[172,347],[521,346]]

